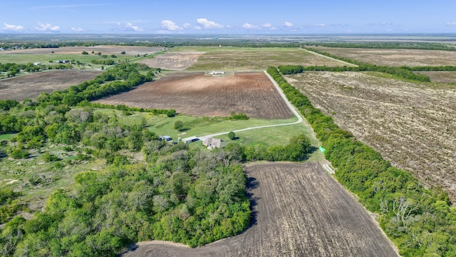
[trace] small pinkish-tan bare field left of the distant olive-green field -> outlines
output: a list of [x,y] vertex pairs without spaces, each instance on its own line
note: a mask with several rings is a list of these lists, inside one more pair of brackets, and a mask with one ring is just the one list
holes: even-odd
[[198,57],[204,52],[166,52],[154,56],[150,59],[138,61],[152,68],[167,69],[173,71],[184,71],[188,67],[195,64]]

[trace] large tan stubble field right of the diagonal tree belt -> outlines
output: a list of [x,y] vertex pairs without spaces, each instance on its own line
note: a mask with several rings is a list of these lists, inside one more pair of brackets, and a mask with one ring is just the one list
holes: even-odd
[[442,186],[456,201],[456,91],[354,72],[305,72],[286,79],[425,186]]

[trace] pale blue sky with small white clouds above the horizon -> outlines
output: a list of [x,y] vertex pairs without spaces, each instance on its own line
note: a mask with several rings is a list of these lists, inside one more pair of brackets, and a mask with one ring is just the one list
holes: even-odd
[[456,1],[4,1],[0,33],[456,33]]

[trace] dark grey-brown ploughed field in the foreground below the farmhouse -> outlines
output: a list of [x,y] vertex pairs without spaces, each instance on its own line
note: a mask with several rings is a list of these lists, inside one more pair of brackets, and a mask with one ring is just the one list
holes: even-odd
[[124,256],[398,256],[371,216],[320,163],[247,168],[250,228],[199,248],[138,243]]

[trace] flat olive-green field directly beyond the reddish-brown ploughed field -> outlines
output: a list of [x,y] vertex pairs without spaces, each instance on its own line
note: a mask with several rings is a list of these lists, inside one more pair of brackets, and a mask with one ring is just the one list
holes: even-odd
[[303,65],[303,66],[343,66],[335,59],[314,54],[305,49],[279,47],[177,47],[173,52],[205,52],[189,71],[262,71],[269,66]]

